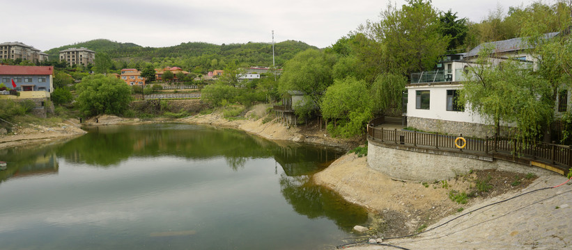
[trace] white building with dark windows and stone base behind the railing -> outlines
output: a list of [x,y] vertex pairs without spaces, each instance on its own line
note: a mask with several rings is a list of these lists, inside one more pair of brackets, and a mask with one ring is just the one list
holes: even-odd
[[[557,33],[548,33],[547,38],[555,35]],[[451,135],[463,133],[464,136],[479,138],[493,135],[494,131],[487,126],[492,122],[488,117],[472,113],[468,103],[465,107],[454,105],[458,91],[463,88],[465,81],[463,71],[476,65],[479,51],[489,46],[493,47],[493,65],[509,58],[521,60],[523,63],[536,61],[534,56],[526,53],[525,49],[530,49],[530,46],[522,38],[479,44],[467,53],[445,56],[438,65],[438,70],[411,75],[411,82],[405,87],[406,103],[403,110],[408,126],[421,131]],[[561,107],[555,111],[566,111],[569,103],[568,92],[562,92],[559,97],[564,99],[559,101]]]

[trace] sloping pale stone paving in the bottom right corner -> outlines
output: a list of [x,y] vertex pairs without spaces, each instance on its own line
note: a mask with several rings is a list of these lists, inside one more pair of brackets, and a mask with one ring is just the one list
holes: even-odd
[[[564,176],[541,176],[517,193],[487,199],[441,219],[428,229],[490,203],[564,181]],[[412,238],[384,240],[383,243],[405,249],[572,249],[572,181],[559,188],[488,206]],[[350,249],[398,248],[362,244]]]

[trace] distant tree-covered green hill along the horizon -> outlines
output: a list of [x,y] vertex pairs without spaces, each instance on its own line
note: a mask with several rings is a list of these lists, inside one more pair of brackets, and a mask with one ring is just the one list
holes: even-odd
[[[221,45],[206,42],[183,42],[172,47],[155,48],[98,39],[50,49],[46,53],[49,54],[50,58],[58,58],[59,51],[72,47],[84,47],[95,52],[105,52],[119,62],[146,62],[155,65],[178,66],[200,72],[222,69],[226,63],[231,62],[241,66],[272,66],[272,44],[264,42]],[[275,44],[277,67],[281,67],[286,60],[306,49],[318,48],[293,40],[278,42]]]

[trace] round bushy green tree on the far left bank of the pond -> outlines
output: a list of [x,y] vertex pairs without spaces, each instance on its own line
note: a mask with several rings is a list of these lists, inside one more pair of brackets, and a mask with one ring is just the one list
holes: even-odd
[[79,110],[84,115],[121,115],[132,101],[130,86],[113,76],[86,76],[76,90]]

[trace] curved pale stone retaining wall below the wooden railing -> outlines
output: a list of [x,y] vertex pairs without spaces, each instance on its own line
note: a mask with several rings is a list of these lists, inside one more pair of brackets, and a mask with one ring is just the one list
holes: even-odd
[[401,181],[440,181],[467,174],[471,169],[498,169],[536,175],[556,174],[539,167],[490,157],[380,144],[373,140],[369,140],[367,163],[372,169]]

